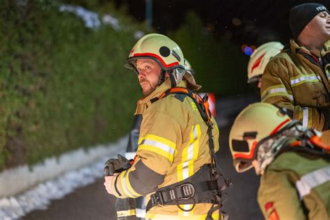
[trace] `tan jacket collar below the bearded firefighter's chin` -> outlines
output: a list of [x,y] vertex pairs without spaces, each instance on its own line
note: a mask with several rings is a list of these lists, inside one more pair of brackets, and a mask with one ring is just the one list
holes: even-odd
[[[177,85],[178,87],[187,87],[187,81],[184,79]],[[136,102],[136,111],[135,115],[143,114],[146,109],[152,104],[151,100],[155,97],[159,97],[165,91],[171,88],[171,80],[168,78],[164,81],[164,83],[158,86],[155,91],[153,91],[150,95],[146,97],[142,97],[139,101]]]

